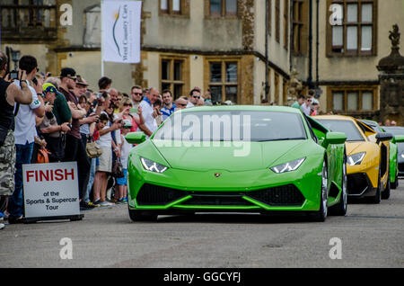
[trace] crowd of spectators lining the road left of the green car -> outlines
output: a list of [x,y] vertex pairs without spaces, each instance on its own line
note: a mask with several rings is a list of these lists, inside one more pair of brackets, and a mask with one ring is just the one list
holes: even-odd
[[[126,94],[106,76],[93,91],[74,68],[49,76],[40,73],[31,56],[21,58],[19,75],[12,78],[6,63],[0,52],[0,195],[8,198],[0,217],[10,224],[24,216],[22,165],[77,162],[81,210],[126,203],[133,146],[125,135],[141,130],[150,137],[172,112],[212,105],[210,94],[202,97],[198,87],[173,103],[170,90],[135,85]],[[88,156],[91,142],[101,148],[100,156]],[[117,162],[123,168],[120,177],[113,176]]]

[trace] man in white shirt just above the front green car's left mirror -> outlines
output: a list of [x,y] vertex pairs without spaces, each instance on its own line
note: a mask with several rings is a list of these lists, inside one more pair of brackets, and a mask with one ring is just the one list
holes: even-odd
[[142,107],[142,114],[143,117],[145,118],[145,124],[140,125],[139,128],[140,130],[145,132],[145,135],[147,138],[152,136],[155,130],[157,130],[157,122],[155,121],[154,118],[154,107],[153,104],[155,101],[159,98],[159,91],[151,87],[147,94],[145,95],[145,98],[143,101],[139,104]]

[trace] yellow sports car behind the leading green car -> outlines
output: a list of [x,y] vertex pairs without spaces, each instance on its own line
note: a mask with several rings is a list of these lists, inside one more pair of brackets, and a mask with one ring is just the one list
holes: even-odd
[[[329,130],[347,135],[347,193],[350,197],[370,197],[373,203],[388,199],[390,133],[377,133],[353,117],[321,115],[315,117]],[[374,142],[369,137],[376,139]]]

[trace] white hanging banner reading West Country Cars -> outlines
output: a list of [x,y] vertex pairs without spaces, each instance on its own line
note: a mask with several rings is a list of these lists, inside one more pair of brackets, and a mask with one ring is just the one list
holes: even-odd
[[103,61],[127,64],[140,62],[141,15],[141,1],[102,1]]

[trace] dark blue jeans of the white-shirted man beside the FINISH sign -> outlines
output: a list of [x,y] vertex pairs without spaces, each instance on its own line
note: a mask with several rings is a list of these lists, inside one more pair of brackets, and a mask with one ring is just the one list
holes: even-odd
[[22,182],[22,165],[31,164],[34,142],[25,145],[15,144],[15,188],[13,194],[8,199],[8,212],[11,217],[20,218],[24,213],[24,197]]

